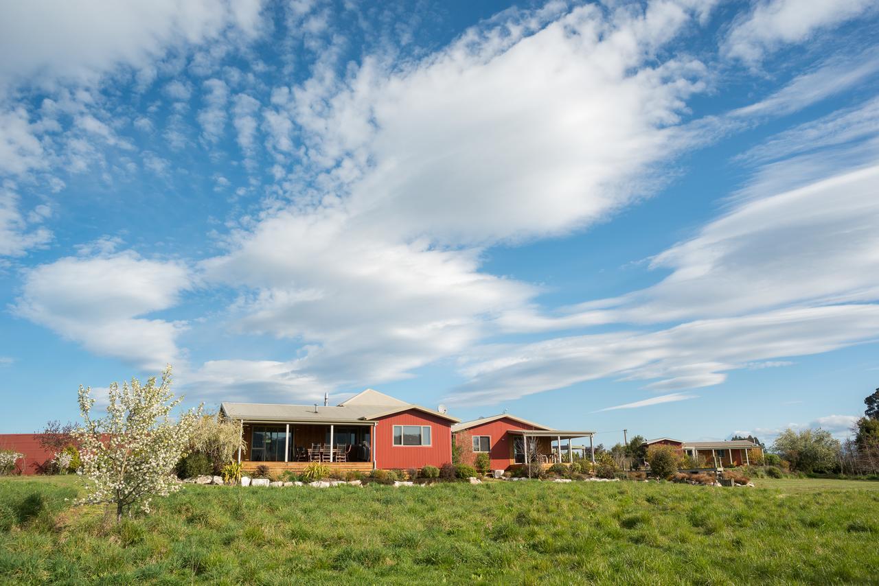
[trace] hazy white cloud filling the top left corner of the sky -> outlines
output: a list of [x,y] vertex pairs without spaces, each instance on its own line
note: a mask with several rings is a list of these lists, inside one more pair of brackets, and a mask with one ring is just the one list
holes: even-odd
[[32,76],[40,84],[91,82],[119,65],[152,65],[170,47],[227,30],[251,38],[260,30],[260,10],[258,2],[228,0],[8,4],[0,19],[0,83]]

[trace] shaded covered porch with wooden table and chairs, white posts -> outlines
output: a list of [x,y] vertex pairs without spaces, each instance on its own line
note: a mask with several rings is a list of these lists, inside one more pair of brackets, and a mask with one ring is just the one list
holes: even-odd
[[312,462],[345,470],[375,467],[374,422],[241,423],[243,446],[238,450],[238,461],[245,470],[261,465],[299,470]]

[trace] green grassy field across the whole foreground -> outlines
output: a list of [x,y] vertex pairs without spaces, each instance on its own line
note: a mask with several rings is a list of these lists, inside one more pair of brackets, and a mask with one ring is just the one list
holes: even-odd
[[34,490],[45,504],[0,532],[0,582],[875,583],[879,570],[874,490],[186,486],[115,525],[64,503],[75,482],[0,480],[0,502]]

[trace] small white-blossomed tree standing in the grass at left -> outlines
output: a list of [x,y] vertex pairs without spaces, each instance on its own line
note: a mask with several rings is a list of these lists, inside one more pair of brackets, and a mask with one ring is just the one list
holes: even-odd
[[182,397],[171,392],[171,365],[142,385],[110,385],[107,415],[91,418],[95,400],[91,387],[79,387],[79,410],[84,424],[76,430],[80,441],[82,472],[87,479],[86,496],[79,503],[116,505],[116,519],[131,505],[140,503],[149,512],[153,496],[168,496],[179,486],[172,475],[178,459],[185,456],[201,407],[183,413],[177,422],[169,417]]

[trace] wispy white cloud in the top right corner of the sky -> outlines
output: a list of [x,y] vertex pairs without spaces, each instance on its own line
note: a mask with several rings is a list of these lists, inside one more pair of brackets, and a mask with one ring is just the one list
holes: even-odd
[[810,40],[821,29],[839,25],[875,7],[875,0],[759,0],[738,18],[723,40],[730,58],[755,63],[764,55]]

